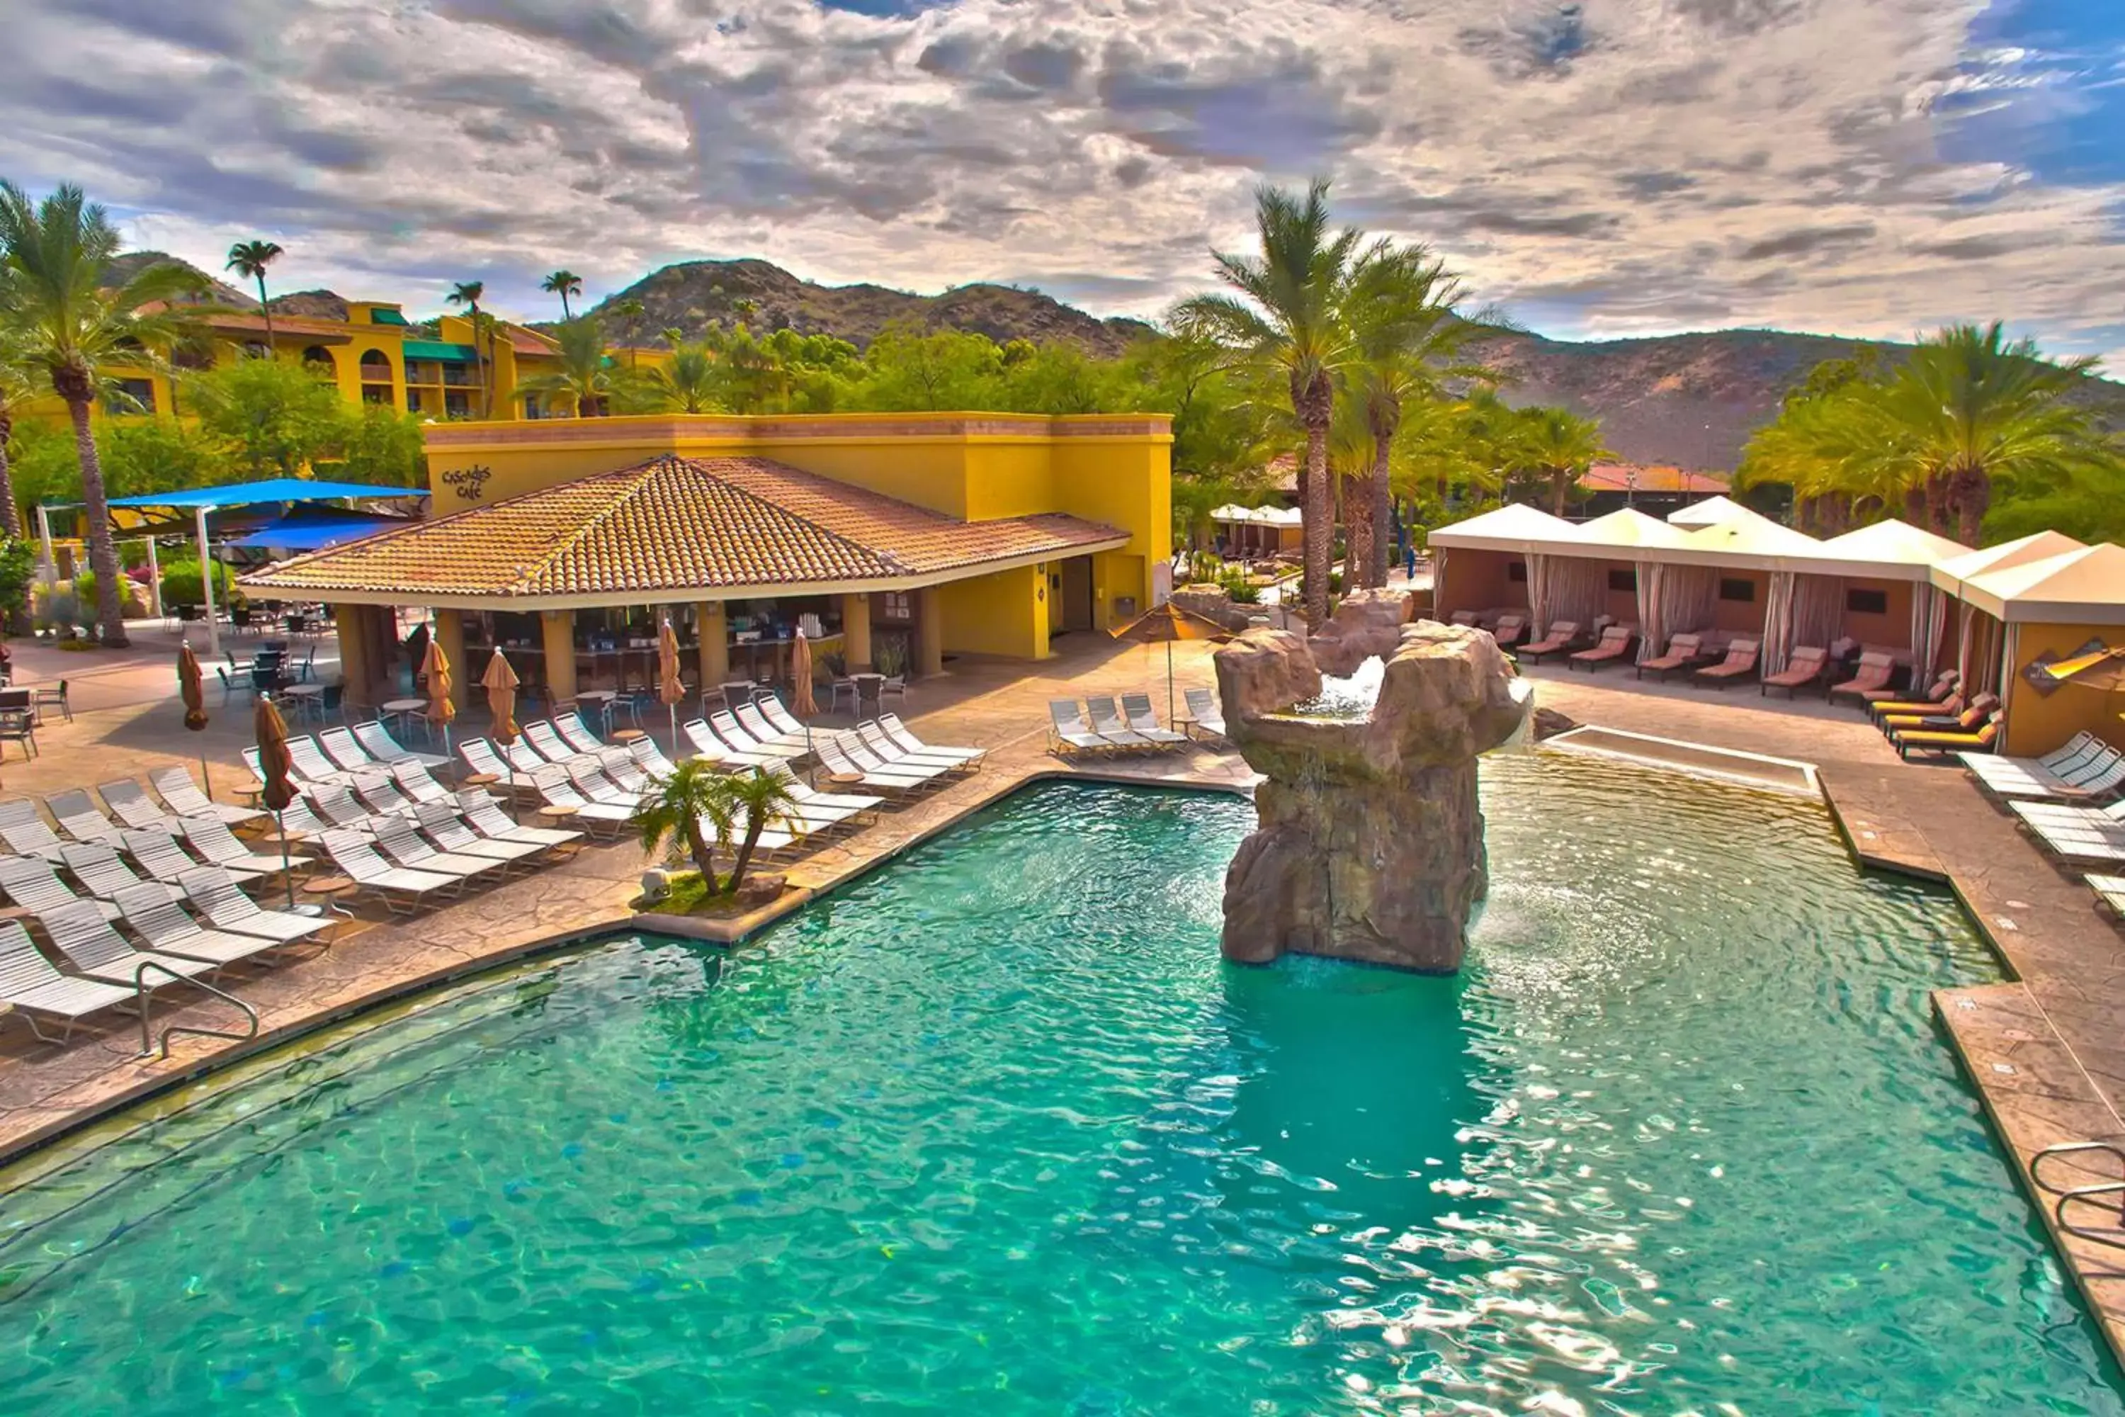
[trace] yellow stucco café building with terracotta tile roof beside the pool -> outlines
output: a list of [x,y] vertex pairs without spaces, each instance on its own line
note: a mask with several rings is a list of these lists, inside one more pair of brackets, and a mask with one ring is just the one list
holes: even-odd
[[355,701],[397,605],[436,612],[461,682],[502,648],[555,699],[640,686],[665,616],[701,686],[786,673],[797,625],[848,669],[1039,661],[1164,599],[1171,446],[1162,414],[440,423],[434,520],[244,586],[338,608]]

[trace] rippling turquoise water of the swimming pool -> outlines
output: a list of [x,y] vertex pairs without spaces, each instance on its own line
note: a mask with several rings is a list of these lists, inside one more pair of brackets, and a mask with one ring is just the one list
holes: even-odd
[[[2119,1413],[1808,803],[1485,765],[1458,979],[1216,954],[1226,797],[1048,786],[0,1209],[8,1413]],[[32,1224],[32,1219],[36,1224]]]

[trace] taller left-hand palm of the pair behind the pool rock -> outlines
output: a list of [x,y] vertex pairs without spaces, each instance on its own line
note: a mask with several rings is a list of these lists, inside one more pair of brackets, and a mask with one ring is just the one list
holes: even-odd
[[1292,414],[1305,429],[1307,455],[1298,474],[1305,506],[1305,610],[1307,622],[1328,618],[1328,550],[1334,542],[1328,486],[1328,423],[1334,416],[1334,376],[1352,357],[1341,310],[1360,234],[1328,229],[1328,183],[1315,181],[1305,198],[1277,187],[1254,193],[1254,225],[1262,255],[1213,251],[1218,276],[1239,295],[1196,295],[1175,310],[1186,329],[1211,334],[1239,357],[1273,368],[1290,389]]

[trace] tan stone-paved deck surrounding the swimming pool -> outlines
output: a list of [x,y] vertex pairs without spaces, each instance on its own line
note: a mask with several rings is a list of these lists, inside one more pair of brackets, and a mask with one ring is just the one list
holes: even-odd
[[[1175,646],[1175,669],[1184,686],[1209,684],[1209,646]],[[30,678],[36,676],[26,673],[19,682]],[[151,665],[106,678],[106,695],[87,695],[102,707],[83,712],[83,695],[76,693],[76,722],[40,731],[42,756],[0,767],[0,797],[140,775],[166,763],[198,769],[202,748],[215,763],[217,782],[244,778],[238,748],[251,741],[251,716],[242,703],[217,710],[206,733],[189,735],[178,727],[178,705],[153,693]],[[2125,1143],[2119,1113],[2125,1100],[2125,937],[2097,914],[2078,873],[2055,869],[1961,771],[1900,763],[1853,710],[1821,701],[1762,699],[1747,686],[1708,693],[1636,684],[1626,671],[1585,676],[1551,665],[1532,667],[1528,678],[1541,684],[1541,705],[1579,722],[1817,765],[1853,854],[1868,867],[1946,882],[2012,973],[2006,984],[1944,990],[1936,996],[1936,1011],[2025,1185],[2029,1158],[2046,1145]],[[916,686],[903,714],[931,741],[988,748],[984,771],[886,812],[873,826],[812,856],[790,865],[769,863],[767,869],[784,871],[795,886],[778,903],[778,914],[1039,778],[1230,790],[1252,782],[1235,754],[1205,748],[1096,769],[1048,754],[1048,699],[1137,688],[1164,703],[1162,650],[1069,635],[1056,642],[1056,659],[1035,673],[1018,663],[954,661],[952,673]],[[215,690],[208,699],[217,699]],[[482,718],[472,714],[470,731],[478,733]],[[410,922],[363,907],[332,950],[274,971],[232,975],[264,1022],[261,1039],[240,1045],[183,1037],[168,1060],[140,1060],[134,1056],[138,1026],[123,1018],[76,1030],[66,1047],[34,1043],[19,1024],[0,1026],[0,1160],[125,1100],[382,998],[629,928],[638,924],[629,901],[642,867],[644,856],[633,843],[601,843]],[[746,931],[756,924],[742,922]],[[716,935],[718,928],[703,933]],[[720,933],[729,928],[720,926]],[[187,1003],[157,1015],[157,1030],[164,1022],[227,1026],[230,1011],[212,1001]],[[1868,1158],[1853,1158],[1853,1164],[1864,1166]],[[2057,1175],[2110,1181],[2119,1179],[2119,1166],[2112,1162],[2082,1173],[2059,1166]],[[2125,1249],[2061,1234],[2048,1205],[2038,1209],[2106,1338],[2125,1360]]]

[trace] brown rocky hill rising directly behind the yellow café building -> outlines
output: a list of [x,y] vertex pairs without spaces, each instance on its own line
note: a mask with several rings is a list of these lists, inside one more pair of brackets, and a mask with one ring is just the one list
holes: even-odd
[[[620,300],[640,300],[642,317],[612,314]],[[750,306],[740,308],[740,302]],[[710,321],[744,319],[752,329],[833,334],[869,344],[892,323],[971,329],[997,342],[1069,342],[1111,357],[1148,331],[1139,321],[1103,321],[1039,291],[1007,285],[960,285],[941,295],[914,295],[882,285],[814,285],[767,261],[682,261],[635,280],[597,306],[614,338],[654,340],[665,329],[699,334]]]

